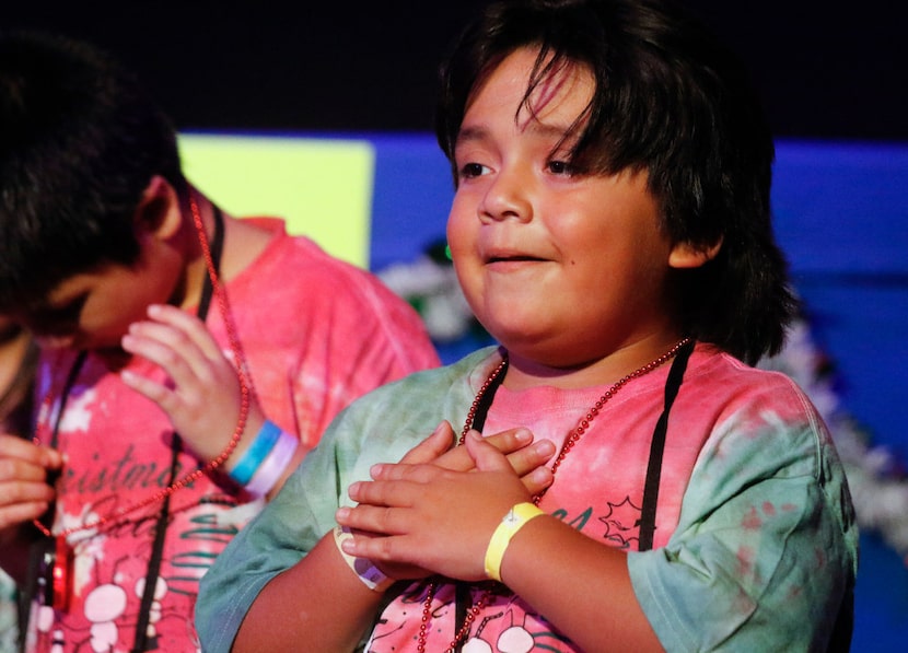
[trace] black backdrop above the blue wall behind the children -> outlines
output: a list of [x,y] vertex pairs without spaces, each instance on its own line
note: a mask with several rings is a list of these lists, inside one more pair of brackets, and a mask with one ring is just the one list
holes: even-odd
[[[93,40],[181,129],[426,131],[435,67],[479,0],[0,0],[0,27]],[[901,0],[688,0],[748,62],[779,137],[908,141]]]

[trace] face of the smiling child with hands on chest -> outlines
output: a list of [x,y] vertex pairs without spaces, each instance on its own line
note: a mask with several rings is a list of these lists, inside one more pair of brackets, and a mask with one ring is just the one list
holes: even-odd
[[532,115],[521,108],[535,57],[511,54],[467,106],[447,238],[482,325],[512,357],[562,368],[672,333],[672,244],[645,173],[572,175],[571,138],[558,147],[593,92],[584,68],[562,68]]

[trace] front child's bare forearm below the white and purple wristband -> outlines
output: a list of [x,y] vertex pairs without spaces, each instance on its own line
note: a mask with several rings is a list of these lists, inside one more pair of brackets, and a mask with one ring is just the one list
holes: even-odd
[[353,574],[329,534],[263,588],[233,651],[352,651],[381,599]]

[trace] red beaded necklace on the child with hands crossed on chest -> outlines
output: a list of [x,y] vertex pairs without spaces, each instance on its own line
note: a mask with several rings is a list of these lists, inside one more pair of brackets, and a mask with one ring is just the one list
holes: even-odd
[[[580,421],[578,422],[577,427],[573,428],[571,433],[564,440],[564,444],[561,445],[561,450],[558,452],[558,455],[555,458],[555,462],[551,464],[551,474],[555,476],[558,473],[558,468],[561,466],[561,463],[568,456],[568,454],[573,450],[574,445],[580,441],[586,430],[590,428],[590,423],[596,418],[596,416],[602,410],[603,406],[615,396],[615,394],[620,390],[628,382],[639,378],[645,374],[649,374],[656,368],[664,365],[666,362],[672,360],[678,351],[688,342],[690,342],[690,338],[684,338],[675,343],[672,349],[660,355],[657,359],[650,361],[642,368],[639,368],[631,372],[630,374],[619,378],[615,382],[603,395],[596,399],[590,410],[584,415]],[[502,377],[501,375],[508,369],[508,357],[502,359],[501,363],[496,366],[494,370],[491,371],[489,376],[486,378],[482,386],[479,388],[479,392],[476,393],[476,397],[470,405],[469,411],[467,412],[467,418],[464,423],[464,428],[461,431],[461,438],[457,444],[463,444],[464,440],[466,439],[467,432],[473,428],[474,420],[476,419],[476,413],[479,410],[480,405],[482,404],[484,399],[486,398],[486,393],[492,385],[496,385],[499,382],[499,378]],[[551,486],[549,486],[551,487]],[[533,497],[533,503],[536,505],[539,504],[542,501],[543,495],[545,494],[546,490],[543,490],[535,497]],[[417,644],[417,651],[419,653],[426,653],[426,643],[429,637],[429,623],[431,622],[431,615],[432,615],[432,600],[435,597],[435,592],[439,587],[439,581],[433,580],[429,583],[429,588],[426,595],[426,599],[422,603],[422,620],[419,626],[419,641]],[[445,649],[445,653],[454,653],[457,644],[469,634],[470,628],[473,622],[481,613],[482,608],[485,607],[486,603],[492,595],[492,590],[486,590],[479,599],[467,610],[466,617],[464,619],[464,625],[457,630],[454,634],[454,639],[447,644]]]

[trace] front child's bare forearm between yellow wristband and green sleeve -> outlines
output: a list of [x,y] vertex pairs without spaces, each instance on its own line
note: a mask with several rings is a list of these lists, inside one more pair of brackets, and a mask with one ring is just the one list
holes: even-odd
[[584,651],[662,651],[627,571],[627,556],[540,516],[511,540],[502,581]]

